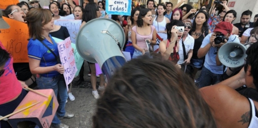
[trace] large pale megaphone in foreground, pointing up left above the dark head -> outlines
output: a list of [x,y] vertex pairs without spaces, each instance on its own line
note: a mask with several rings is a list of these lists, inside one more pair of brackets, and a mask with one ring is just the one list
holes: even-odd
[[126,63],[121,51],[125,39],[124,30],[118,23],[107,18],[97,18],[79,30],[76,49],[85,60],[98,63],[108,81],[116,68]]

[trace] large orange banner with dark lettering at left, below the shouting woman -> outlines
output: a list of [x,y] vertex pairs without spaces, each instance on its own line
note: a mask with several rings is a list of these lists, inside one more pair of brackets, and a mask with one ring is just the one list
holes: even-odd
[[6,17],[3,17],[3,20],[10,26],[9,29],[0,29],[0,41],[3,46],[12,54],[14,63],[29,62],[27,24]]

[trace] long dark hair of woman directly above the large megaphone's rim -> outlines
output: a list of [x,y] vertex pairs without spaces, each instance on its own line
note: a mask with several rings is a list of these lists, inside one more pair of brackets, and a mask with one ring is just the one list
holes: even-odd
[[98,18],[97,11],[99,11],[97,3],[89,2],[88,4],[86,4],[85,9],[82,14],[82,22],[85,21],[87,23],[90,20]]

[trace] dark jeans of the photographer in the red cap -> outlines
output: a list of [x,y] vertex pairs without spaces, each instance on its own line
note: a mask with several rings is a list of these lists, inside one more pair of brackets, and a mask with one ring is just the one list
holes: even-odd
[[214,74],[203,66],[200,77],[198,77],[195,84],[198,88],[209,86],[215,84],[221,76],[222,74]]

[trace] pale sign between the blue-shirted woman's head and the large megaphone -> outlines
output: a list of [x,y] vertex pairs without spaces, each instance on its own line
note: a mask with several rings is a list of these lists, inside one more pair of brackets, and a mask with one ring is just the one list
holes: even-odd
[[58,26],[65,26],[68,29],[71,42],[75,43],[76,35],[79,32],[80,26],[82,24],[81,20],[55,20],[54,24]]

